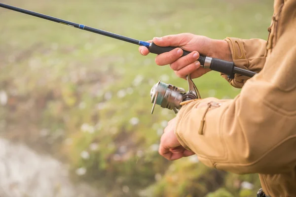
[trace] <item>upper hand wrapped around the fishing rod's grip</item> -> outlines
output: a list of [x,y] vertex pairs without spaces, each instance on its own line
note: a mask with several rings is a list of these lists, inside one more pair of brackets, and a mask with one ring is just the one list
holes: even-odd
[[[159,66],[170,65],[176,75],[184,79],[190,73],[191,78],[197,78],[210,71],[210,69],[200,67],[200,63],[197,61],[199,53],[212,58],[231,61],[230,48],[224,40],[215,40],[192,33],[181,33],[160,38],[154,37],[153,40],[148,42],[152,41],[158,46],[178,47],[170,52],[157,55],[155,63]],[[191,53],[181,57],[183,51],[179,47]],[[139,52],[146,56],[149,50],[147,47],[140,46]]]

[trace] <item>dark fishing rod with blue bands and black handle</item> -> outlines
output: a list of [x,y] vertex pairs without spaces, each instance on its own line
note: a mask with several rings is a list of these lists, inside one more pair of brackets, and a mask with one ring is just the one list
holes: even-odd
[[[145,47],[148,48],[149,52],[153,53],[153,54],[161,54],[161,53],[169,52],[169,51],[177,48],[177,47],[160,47],[160,46],[157,46],[156,44],[154,44],[153,42],[149,43],[149,42],[146,42],[146,41],[137,40],[137,39],[126,37],[126,36],[119,35],[119,34],[116,34],[116,33],[111,33],[111,32],[107,32],[107,31],[95,29],[95,28],[88,27],[88,26],[85,26],[85,25],[82,25],[82,24],[73,23],[73,22],[70,22],[70,21],[62,20],[62,19],[55,18],[55,17],[52,17],[52,16],[47,16],[47,15],[40,14],[40,13],[37,13],[37,12],[33,12],[33,11],[30,11],[30,10],[25,10],[25,9],[22,9],[22,8],[14,7],[14,6],[11,6],[11,5],[4,4],[4,3],[0,3],[0,7],[10,9],[10,10],[13,10],[13,11],[17,11],[17,12],[21,12],[21,13],[24,13],[24,14],[28,14],[28,15],[31,15],[31,16],[35,16],[35,17],[38,17],[38,18],[46,19],[46,20],[49,20],[49,21],[53,21],[53,22],[60,23],[60,24],[63,24],[63,25],[67,25],[67,26],[70,26],[70,27],[78,28],[80,30],[85,30],[85,31],[92,32],[92,33],[98,33],[98,34],[101,34],[101,35],[105,35],[105,36],[108,36],[108,37],[119,39],[119,40],[129,42],[129,43],[132,43],[132,44],[145,46]],[[185,56],[185,55],[188,55],[189,53],[190,52],[183,50],[182,57]],[[204,55],[201,55],[201,54],[199,56],[198,61],[200,62],[200,65],[202,67],[210,68],[211,70],[215,70],[215,71],[227,74],[229,78],[234,78],[234,73],[244,75],[244,76],[248,76],[248,77],[253,77],[255,74],[257,74],[256,72],[253,72],[253,71],[250,71],[250,70],[235,67],[233,62],[228,62],[228,61],[220,60],[220,59],[217,59],[217,58],[211,58],[211,57],[207,57],[207,56],[204,56]]]

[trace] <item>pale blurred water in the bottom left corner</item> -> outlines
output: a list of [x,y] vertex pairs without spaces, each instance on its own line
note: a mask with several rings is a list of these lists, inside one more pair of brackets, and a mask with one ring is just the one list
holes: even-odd
[[0,138],[0,197],[103,197],[85,183],[74,184],[67,165],[24,144]]

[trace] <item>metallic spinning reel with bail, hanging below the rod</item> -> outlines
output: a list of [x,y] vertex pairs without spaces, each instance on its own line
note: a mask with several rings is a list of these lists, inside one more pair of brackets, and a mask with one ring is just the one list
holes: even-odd
[[190,75],[187,75],[187,82],[189,91],[185,92],[184,88],[158,81],[150,91],[151,103],[153,103],[151,114],[153,114],[156,104],[162,108],[173,110],[177,114],[182,106],[180,105],[181,102],[191,99],[201,99]]

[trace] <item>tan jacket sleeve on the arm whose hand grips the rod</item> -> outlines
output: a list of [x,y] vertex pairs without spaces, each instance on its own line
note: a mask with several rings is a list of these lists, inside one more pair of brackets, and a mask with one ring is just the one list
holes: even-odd
[[[235,66],[257,73],[261,71],[266,60],[267,41],[234,37],[227,37],[224,40],[228,42]],[[221,76],[235,88],[242,88],[244,83],[250,78],[240,74],[235,74],[234,79],[228,79],[227,75],[223,73],[221,73]]]

